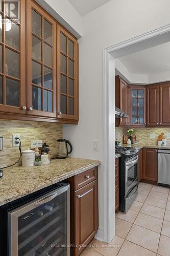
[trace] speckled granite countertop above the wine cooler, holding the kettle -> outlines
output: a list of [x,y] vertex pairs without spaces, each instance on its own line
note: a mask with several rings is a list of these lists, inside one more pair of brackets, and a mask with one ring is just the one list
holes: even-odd
[[50,164],[4,169],[0,179],[0,206],[98,166],[101,161],[81,158],[53,159]]

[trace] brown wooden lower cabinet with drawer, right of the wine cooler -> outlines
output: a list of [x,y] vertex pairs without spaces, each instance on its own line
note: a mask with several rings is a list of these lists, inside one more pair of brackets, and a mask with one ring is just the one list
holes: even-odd
[[70,183],[71,255],[78,256],[94,238],[99,227],[98,167],[67,181]]

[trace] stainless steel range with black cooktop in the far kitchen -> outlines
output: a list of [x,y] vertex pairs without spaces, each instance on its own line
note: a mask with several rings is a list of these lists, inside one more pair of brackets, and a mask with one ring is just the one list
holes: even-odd
[[119,210],[127,212],[138,193],[138,147],[116,146],[119,158]]

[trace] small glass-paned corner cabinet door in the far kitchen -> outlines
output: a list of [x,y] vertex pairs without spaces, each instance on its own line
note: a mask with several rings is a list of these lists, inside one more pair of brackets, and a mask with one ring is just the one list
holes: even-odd
[[144,126],[145,123],[145,88],[131,87],[131,125]]

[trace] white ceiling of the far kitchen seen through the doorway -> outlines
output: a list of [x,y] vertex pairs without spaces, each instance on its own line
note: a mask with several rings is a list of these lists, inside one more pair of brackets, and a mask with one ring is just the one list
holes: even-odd
[[[134,74],[154,74],[170,70],[170,42],[120,57],[119,60]],[[170,71],[169,71],[170,72]]]

